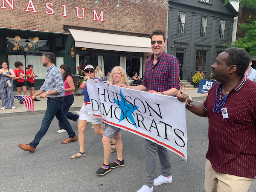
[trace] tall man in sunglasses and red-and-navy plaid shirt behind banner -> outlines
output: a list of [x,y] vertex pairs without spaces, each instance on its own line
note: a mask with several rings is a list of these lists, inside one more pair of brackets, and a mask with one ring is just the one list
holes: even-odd
[[[143,83],[136,87],[128,88],[168,96],[177,95],[180,90],[180,63],[176,57],[164,52],[165,46],[166,37],[164,32],[160,30],[152,32],[151,48],[154,54],[146,62]],[[127,87],[125,85],[119,86]],[[153,185],[172,183],[168,150],[147,139],[145,140],[145,149],[147,151],[146,178],[143,187],[138,192],[151,192],[153,191]],[[154,179],[157,152],[161,163],[162,175]]]

